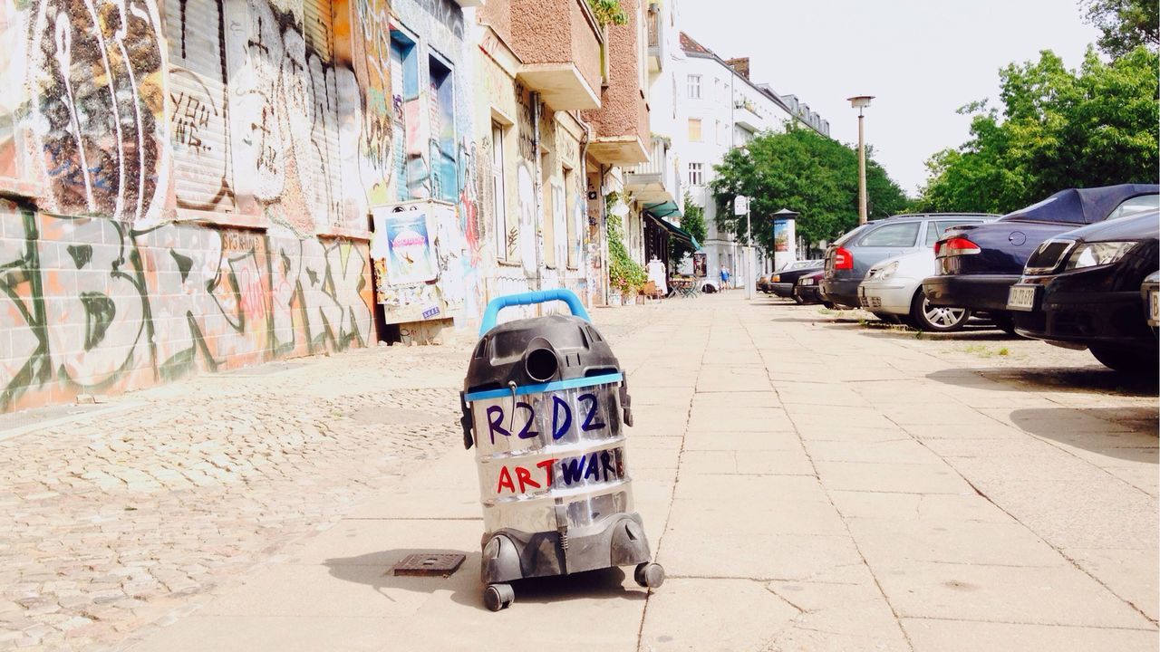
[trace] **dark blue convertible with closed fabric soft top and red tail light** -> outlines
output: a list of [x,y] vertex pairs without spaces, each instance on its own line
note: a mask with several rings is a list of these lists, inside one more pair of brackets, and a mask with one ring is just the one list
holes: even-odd
[[1160,186],[1144,183],[1072,188],[993,223],[949,231],[935,242],[937,269],[922,290],[931,305],[989,312],[1012,331],[1007,294],[1036,247],[1085,224],[1154,210],[1158,193]]

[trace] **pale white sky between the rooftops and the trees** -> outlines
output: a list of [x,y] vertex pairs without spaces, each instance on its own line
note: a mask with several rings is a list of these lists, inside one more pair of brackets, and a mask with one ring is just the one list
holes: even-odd
[[749,57],[749,78],[793,94],[829,121],[829,135],[858,139],[846,101],[873,95],[867,144],[907,195],[925,162],[963,144],[959,107],[999,106],[999,70],[1052,50],[1079,67],[1099,32],[1076,0],[677,0],[681,29],[722,58]]

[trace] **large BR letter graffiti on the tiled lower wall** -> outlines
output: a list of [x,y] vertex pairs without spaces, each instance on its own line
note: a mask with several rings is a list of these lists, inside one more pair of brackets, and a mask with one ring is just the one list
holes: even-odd
[[368,252],[0,201],[0,408],[365,346]]

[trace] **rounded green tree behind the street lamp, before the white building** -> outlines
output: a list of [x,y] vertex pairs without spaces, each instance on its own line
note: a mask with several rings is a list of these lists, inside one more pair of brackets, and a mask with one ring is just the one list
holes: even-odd
[[[867,152],[867,196],[871,217],[886,217],[907,205],[901,188]],[[774,251],[773,215],[800,213],[797,234],[807,242],[833,240],[858,223],[857,151],[810,129],[788,125],[784,133],[763,133],[744,150],[733,150],[715,166],[717,226],[746,241],[745,216],[734,216],[733,198],[751,197],[753,237]]]

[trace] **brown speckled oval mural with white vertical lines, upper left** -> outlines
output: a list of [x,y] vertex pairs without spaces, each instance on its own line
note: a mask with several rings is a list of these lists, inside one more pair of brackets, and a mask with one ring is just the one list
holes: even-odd
[[153,0],[41,0],[28,12],[30,110],[49,204],[157,218],[169,155]]

